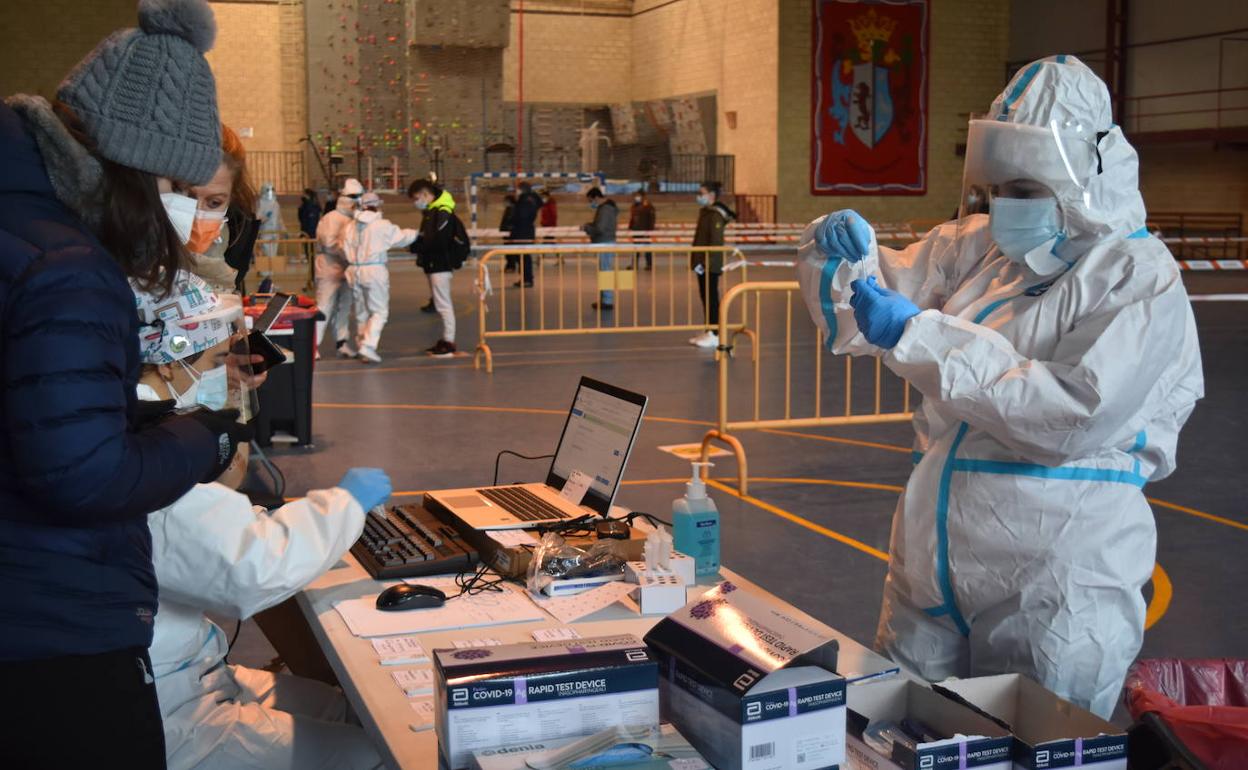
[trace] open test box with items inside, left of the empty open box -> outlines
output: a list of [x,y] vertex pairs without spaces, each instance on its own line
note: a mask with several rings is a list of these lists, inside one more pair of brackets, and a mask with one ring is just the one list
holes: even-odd
[[[943,735],[971,736],[956,744],[917,744],[914,751],[895,746],[881,756],[862,741],[879,721],[915,719]],[[880,679],[849,688],[847,768],[851,770],[1012,770],[1013,736],[995,720],[932,691],[912,679]]]

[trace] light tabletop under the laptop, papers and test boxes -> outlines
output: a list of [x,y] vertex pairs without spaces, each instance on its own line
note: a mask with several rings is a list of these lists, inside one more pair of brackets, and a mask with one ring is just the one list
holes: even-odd
[[[724,569],[721,577],[743,588],[768,594],[768,592],[745,580],[740,575]],[[342,616],[333,609],[336,602],[376,597],[383,588],[347,554],[338,567],[329,570],[298,594],[298,604],[307,616],[317,641],[326,658],[338,675],[342,689],[373,738],[378,751],[392,768],[412,770],[432,770],[437,768],[438,744],[433,730],[413,733],[408,726],[414,721],[416,713],[408,705],[408,698],[394,684],[391,673],[401,668],[383,666],[377,660],[377,653],[368,639],[354,636],[347,629]],[[696,590],[706,590],[710,584]],[[694,588],[690,592],[695,590]],[[779,599],[778,599],[779,600]],[[799,616],[802,614],[794,610]],[[610,634],[645,635],[663,615],[640,615],[636,605],[625,599],[583,618],[572,626],[582,636],[604,636]],[[849,636],[827,628],[814,618],[804,616],[805,621],[816,628],[824,628],[827,635],[840,644],[837,668],[841,673],[872,674],[894,668],[885,658],[872,653]],[[485,628],[470,628],[456,631],[419,634],[421,644],[427,651],[451,648],[457,639],[493,638],[503,643],[532,641],[532,631],[538,628],[563,625],[554,618],[535,623],[515,623]]]

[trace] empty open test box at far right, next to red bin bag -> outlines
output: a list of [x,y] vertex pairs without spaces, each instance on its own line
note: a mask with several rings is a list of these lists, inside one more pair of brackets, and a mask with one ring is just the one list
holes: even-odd
[[1026,676],[978,676],[932,689],[1001,721],[1013,733],[1015,770],[1127,768],[1126,731]]

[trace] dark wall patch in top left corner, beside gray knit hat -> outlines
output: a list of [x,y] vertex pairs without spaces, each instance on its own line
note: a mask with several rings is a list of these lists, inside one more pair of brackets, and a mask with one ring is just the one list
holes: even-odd
[[54,96],[65,75],[97,42],[137,24],[134,0],[0,2],[0,95]]

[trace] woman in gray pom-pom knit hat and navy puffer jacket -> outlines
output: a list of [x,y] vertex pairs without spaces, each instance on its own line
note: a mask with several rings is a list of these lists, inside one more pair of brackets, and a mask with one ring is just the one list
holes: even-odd
[[[221,162],[205,0],[141,0],[54,104],[0,105],[5,768],[163,768],[146,514],[215,479],[237,413],[140,411],[134,288],[168,291]],[[69,709],[69,711],[67,711]]]

